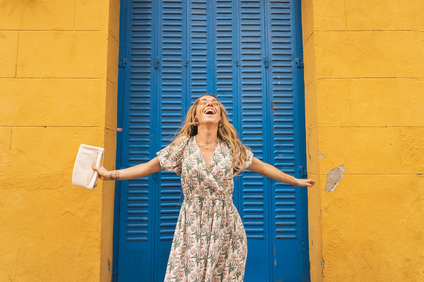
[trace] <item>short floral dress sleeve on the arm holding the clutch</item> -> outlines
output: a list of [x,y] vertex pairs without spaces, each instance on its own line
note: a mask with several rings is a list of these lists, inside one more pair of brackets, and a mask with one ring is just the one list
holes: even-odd
[[186,146],[187,139],[179,140],[156,152],[162,169],[181,175],[181,164]]

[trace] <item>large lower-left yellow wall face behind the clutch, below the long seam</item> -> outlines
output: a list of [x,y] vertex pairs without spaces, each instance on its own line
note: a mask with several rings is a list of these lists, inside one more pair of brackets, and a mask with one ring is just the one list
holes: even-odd
[[[10,130],[10,128],[8,128]],[[73,186],[81,143],[104,146],[102,128],[14,127],[8,174],[0,178],[0,252],[17,281],[98,281],[102,189]],[[41,161],[42,160],[42,161]],[[17,220],[18,219],[18,220]],[[73,266],[71,266],[73,265]]]

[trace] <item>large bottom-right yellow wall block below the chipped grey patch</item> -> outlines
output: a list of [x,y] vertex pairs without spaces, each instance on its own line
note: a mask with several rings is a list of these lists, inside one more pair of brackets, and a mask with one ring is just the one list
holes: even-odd
[[423,281],[424,177],[346,172],[320,189],[324,281]]

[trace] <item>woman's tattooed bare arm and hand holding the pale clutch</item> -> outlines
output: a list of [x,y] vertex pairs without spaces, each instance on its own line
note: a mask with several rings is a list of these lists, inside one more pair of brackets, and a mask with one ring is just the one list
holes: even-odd
[[108,171],[103,166],[91,168],[99,173],[99,178],[102,180],[128,180],[148,176],[162,170],[158,157],[144,164],[137,164],[134,167],[128,167],[122,170]]

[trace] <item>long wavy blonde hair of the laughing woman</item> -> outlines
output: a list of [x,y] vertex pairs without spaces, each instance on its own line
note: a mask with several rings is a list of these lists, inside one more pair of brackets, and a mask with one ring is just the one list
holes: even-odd
[[[196,108],[197,105],[200,102],[201,97],[203,96],[212,96],[215,99],[218,100],[219,103],[219,107],[221,110],[221,125],[218,126],[218,139],[222,142],[222,141],[226,141],[229,145],[230,148],[232,148],[232,152],[233,152],[233,162],[232,162],[232,169],[234,171],[233,177],[237,176],[240,174],[240,172],[242,172],[245,167],[246,167],[246,157],[247,157],[247,152],[246,150],[250,150],[249,147],[246,147],[245,145],[242,144],[242,142],[240,141],[237,131],[234,128],[234,126],[232,126],[232,124],[229,122],[228,120],[228,113],[225,110],[224,106],[221,104],[221,102],[219,101],[218,97],[216,97],[213,94],[205,94],[200,96],[195,102],[194,104],[192,104],[192,106],[190,107],[190,109],[187,112],[187,116],[184,120],[184,122],[181,124],[180,127],[180,133],[176,135],[176,138],[171,142],[171,146],[176,143],[176,142],[181,142],[184,138],[186,137],[192,137],[194,135],[197,134],[197,124],[195,122],[195,118],[196,118]],[[180,144],[180,143],[178,143]],[[171,147],[170,146],[170,147]],[[237,166],[237,150],[240,150],[240,169],[235,169],[234,167]]]

